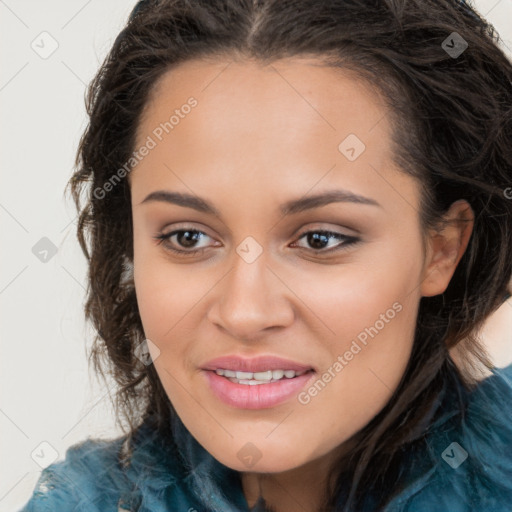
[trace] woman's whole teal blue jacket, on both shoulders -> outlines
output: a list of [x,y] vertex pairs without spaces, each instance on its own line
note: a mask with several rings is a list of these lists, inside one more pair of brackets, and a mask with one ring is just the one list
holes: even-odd
[[[422,442],[404,453],[406,485],[384,512],[512,511],[512,365],[494,369],[472,392],[457,382],[458,390],[440,397]],[[20,512],[250,512],[239,473],[204,450],[179,418],[171,429],[178,452],[143,424],[127,465],[118,457],[126,436],[70,447],[42,471]],[[364,511],[376,512],[371,493]]]

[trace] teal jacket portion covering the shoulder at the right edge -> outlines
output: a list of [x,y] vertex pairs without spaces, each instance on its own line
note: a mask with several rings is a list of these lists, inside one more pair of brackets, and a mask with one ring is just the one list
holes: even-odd
[[[456,419],[457,418],[457,419]],[[431,462],[389,512],[510,512],[512,503],[512,365],[495,368],[452,417],[426,439]]]

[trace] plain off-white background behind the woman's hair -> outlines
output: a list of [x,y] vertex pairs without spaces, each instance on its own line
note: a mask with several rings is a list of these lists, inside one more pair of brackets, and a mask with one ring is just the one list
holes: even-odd
[[[86,265],[74,206],[63,190],[86,125],[86,84],[134,4],[0,0],[0,511],[17,511],[30,497],[41,471],[36,460],[44,465],[52,454],[41,442],[62,459],[88,436],[120,434],[108,389],[88,370]],[[475,5],[512,57],[512,0]],[[52,44],[58,48],[47,57]],[[57,249],[47,262],[32,250],[43,237]],[[511,341],[503,330],[511,325],[511,301],[504,306],[489,331],[500,338],[501,358],[510,355]]]

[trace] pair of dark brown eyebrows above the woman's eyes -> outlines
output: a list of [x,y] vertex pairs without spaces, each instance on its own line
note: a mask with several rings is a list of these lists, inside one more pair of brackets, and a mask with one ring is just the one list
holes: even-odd
[[[209,201],[187,193],[156,190],[155,192],[151,192],[140,204],[154,201],[176,204],[178,206],[192,208],[198,212],[209,213],[220,217],[219,210]],[[375,199],[354,194],[348,190],[330,190],[313,196],[293,199],[282,204],[280,210],[283,215],[292,215],[305,210],[320,208],[321,206],[326,206],[331,203],[357,203],[382,208]]]

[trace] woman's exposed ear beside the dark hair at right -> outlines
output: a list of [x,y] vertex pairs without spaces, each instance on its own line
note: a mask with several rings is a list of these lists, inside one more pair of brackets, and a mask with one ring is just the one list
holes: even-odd
[[423,269],[421,295],[443,293],[469,243],[475,216],[469,203],[455,201],[428,236],[428,250]]

